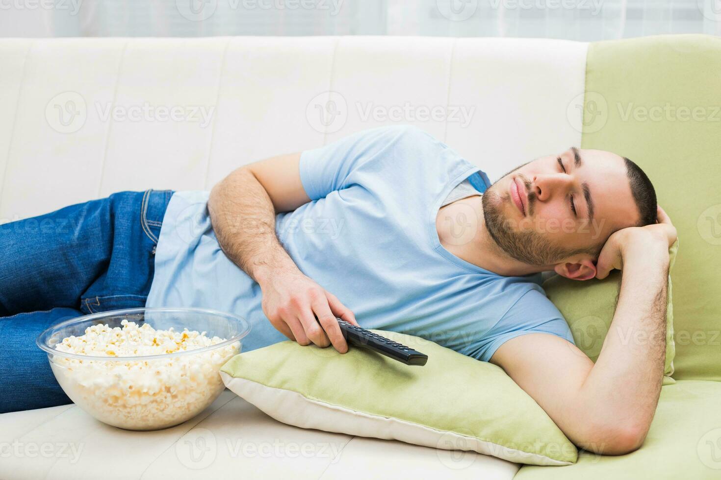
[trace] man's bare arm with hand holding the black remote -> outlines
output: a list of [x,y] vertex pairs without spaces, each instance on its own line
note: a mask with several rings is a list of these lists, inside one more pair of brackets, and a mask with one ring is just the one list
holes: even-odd
[[275,235],[277,212],[310,201],[299,162],[300,154],[293,153],[236,169],[213,187],[208,211],[224,253],[260,285],[262,309],[273,327],[301,345],[332,343],[345,353],[335,317],[356,323],[353,312],[305,276]]

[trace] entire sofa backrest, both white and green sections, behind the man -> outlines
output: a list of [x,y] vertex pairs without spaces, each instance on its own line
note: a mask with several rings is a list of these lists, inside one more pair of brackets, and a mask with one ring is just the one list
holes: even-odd
[[0,222],[113,191],[210,189],[238,166],[383,124],[427,130],[492,179],[571,145],[604,148],[649,171],[679,227],[676,330],[705,340],[677,338],[676,378],[721,379],[721,122],[660,127],[616,109],[721,105],[720,43],[0,40]]

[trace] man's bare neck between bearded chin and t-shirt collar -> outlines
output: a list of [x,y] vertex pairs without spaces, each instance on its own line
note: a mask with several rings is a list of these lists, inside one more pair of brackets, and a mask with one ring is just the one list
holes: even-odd
[[[480,195],[469,196],[446,205],[446,207],[441,208],[438,212],[438,237],[441,239],[441,245],[443,245],[446,250],[466,262],[473,263],[475,266],[503,276],[523,276],[553,270],[553,266],[528,265],[505,253],[505,251],[495,243],[495,240],[493,240],[493,237],[491,237],[488,232],[485,217],[483,216],[483,203],[481,199],[482,197]],[[469,207],[474,210],[477,219],[475,236],[472,240],[460,243],[459,245],[444,242],[444,237],[449,238],[448,234],[450,229],[448,227],[448,221],[450,220],[452,222],[456,215],[460,213],[461,209],[467,212]],[[458,212],[454,212],[454,209],[458,210]]]

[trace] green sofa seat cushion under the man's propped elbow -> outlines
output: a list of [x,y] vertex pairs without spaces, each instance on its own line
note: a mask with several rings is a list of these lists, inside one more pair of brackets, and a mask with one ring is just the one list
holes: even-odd
[[563,468],[523,466],[515,480],[721,478],[721,383],[677,380],[661,388],[645,443],[624,456],[580,452]]

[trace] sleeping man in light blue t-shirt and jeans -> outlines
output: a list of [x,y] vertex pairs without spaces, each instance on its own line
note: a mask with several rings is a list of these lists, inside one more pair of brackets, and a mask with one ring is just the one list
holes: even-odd
[[[660,393],[675,239],[627,158],[570,148],[491,185],[415,127],[242,166],[209,194],[120,192],[0,225],[0,412],[70,402],[34,345],[46,327],[207,307],[251,322],[247,350],[290,338],[345,353],[335,317],[428,338],[502,367],[581,448],[627,453]],[[609,335],[594,364],[541,272],[614,268],[614,326],[650,340]]]

